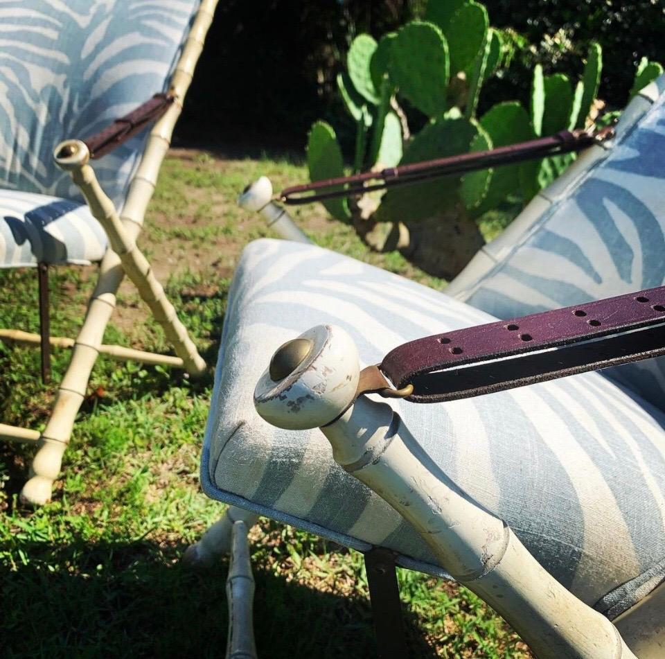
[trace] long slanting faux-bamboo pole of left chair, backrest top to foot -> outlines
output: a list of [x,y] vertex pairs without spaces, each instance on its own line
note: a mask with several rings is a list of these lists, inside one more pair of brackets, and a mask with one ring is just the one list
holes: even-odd
[[[180,116],[182,102],[189,88],[196,63],[203,49],[218,0],[202,0],[180,59],[175,67],[170,94],[175,103],[155,123],[145,144],[141,163],[132,178],[123,207],[123,227],[130,240],[141,231],[161,161],[170,146],[173,127]],[[124,276],[120,258],[107,250],[100,266],[100,278],[88,306],[85,322],[75,345],[67,374],[56,394],[51,419],[39,439],[37,454],[30,467],[30,480],[21,491],[21,498],[33,504],[44,504],[51,498],[53,481],[60,473],[62,455],[71,436],[73,423],[85,396],[85,389],[104,330],[116,304],[116,292]]]

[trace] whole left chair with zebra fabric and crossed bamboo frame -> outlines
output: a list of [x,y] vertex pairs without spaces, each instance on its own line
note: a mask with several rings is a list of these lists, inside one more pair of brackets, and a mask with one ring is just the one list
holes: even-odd
[[[72,349],[44,432],[0,425],[1,438],[37,446],[21,493],[33,504],[51,497],[99,353],[205,369],[136,239],[216,3],[0,3],[11,28],[0,50],[0,267],[37,269],[41,319],[40,335],[0,339],[41,345],[44,377],[50,347]],[[76,340],[49,336],[48,267],[90,263],[99,276]],[[177,356],[102,343],[125,274]]]

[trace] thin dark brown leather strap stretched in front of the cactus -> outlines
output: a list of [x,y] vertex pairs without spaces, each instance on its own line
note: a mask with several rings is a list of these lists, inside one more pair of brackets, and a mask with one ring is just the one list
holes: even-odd
[[524,160],[580,151],[613,135],[614,128],[611,126],[594,133],[584,130],[562,130],[550,137],[540,137],[487,151],[462,153],[447,158],[391,167],[380,172],[365,172],[292,186],[285,188],[280,193],[279,199],[285,204],[299,205],[333,197],[348,197],[398,185],[420,183],[441,176],[459,175],[499,165],[511,165]]

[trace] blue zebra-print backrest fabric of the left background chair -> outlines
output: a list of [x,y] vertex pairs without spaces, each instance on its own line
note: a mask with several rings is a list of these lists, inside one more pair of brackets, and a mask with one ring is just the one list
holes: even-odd
[[[165,91],[199,0],[0,0],[0,186],[81,200],[53,164]],[[146,132],[95,164],[121,205]]]

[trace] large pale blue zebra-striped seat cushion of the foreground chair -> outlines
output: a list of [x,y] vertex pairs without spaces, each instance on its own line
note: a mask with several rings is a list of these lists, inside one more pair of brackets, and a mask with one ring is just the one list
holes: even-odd
[[[273,428],[252,401],[274,350],[342,326],[364,365],[493,317],[313,245],[251,243],[231,286],[206,429],[213,498],[445,576],[427,545],[332,460],[318,430]],[[665,576],[665,416],[601,374],[440,405],[389,401],[432,461],[508,522],[556,579],[609,617]]]

